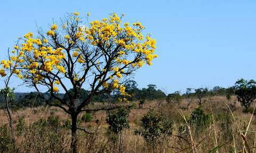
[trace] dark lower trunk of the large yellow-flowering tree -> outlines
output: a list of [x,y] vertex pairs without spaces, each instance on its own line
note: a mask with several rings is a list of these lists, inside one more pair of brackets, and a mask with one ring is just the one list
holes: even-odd
[[77,135],[76,135],[76,124],[77,124],[77,115],[71,115],[71,150],[72,153],[77,153]]

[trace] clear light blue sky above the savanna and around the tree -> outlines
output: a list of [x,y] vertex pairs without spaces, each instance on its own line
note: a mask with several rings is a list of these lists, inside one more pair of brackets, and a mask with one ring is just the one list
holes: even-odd
[[90,20],[124,13],[125,21],[140,21],[157,41],[159,58],[134,75],[139,87],[156,84],[167,93],[187,87],[228,87],[238,78],[256,79],[255,8],[256,1],[228,0],[0,1],[0,57],[5,58],[17,37],[35,31],[36,24],[46,29],[66,13],[90,12]]

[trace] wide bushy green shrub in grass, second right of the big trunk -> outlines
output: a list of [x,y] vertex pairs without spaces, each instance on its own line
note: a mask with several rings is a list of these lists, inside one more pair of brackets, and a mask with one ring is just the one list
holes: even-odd
[[167,121],[152,108],[141,118],[140,126],[140,129],[136,129],[134,133],[141,135],[153,147],[154,152],[156,152],[156,141],[170,136],[173,130],[172,122]]

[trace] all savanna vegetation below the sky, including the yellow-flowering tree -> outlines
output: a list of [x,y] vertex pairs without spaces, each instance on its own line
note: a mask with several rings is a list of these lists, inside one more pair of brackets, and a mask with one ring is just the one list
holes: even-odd
[[[0,152],[254,152],[256,82],[167,94],[138,88],[156,41],[140,22],[71,13],[1,61]],[[13,77],[35,92],[16,93]],[[46,88],[46,90],[44,90]]]

